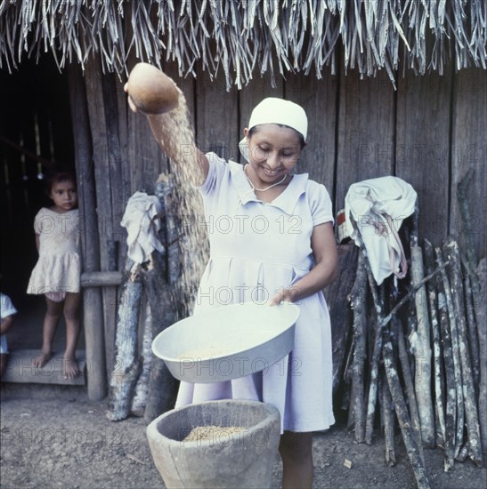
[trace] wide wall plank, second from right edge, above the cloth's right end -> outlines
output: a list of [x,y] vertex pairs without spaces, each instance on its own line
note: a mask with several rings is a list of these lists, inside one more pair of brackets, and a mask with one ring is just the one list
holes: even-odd
[[434,245],[449,229],[451,68],[398,80],[395,174],[418,192],[419,236]]

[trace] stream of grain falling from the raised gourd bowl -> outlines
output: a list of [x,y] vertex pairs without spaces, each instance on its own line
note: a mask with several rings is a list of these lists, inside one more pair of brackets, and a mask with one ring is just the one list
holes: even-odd
[[203,223],[203,202],[198,190],[200,171],[191,119],[183,92],[178,88],[178,107],[161,117],[166,155],[171,158],[175,181],[175,211],[181,223],[179,239],[181,277],[173,291],[175,301],[182,305],[182,314],[188,316],[198,291],[199,279],[209,256],[207,228]]

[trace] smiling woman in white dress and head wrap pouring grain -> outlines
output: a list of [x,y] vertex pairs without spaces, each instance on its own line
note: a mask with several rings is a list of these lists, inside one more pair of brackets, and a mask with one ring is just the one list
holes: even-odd
[[[164,149],[164,119],[148,118]],[[293,301],[301,312],[288,362],[236,381],[182,382],[176,401],[180,406],[244,398],[278,407],[283,487],[312,486],[312,431],[328,429],[334,422],[331,333],[321,291],[335,277],[337,248],[326,188],[307,174],[293,173],[306,134],[303,108],[269,98],[256,106],[244,129],[239,148],[246,164],[197,150],[194,171],[199,172],[206,219],[222,218],[226,224],[209,233],[210,260],[195,314],[221,307],[218,293],[223,289],[225,304],[230,293],[234,302]]]

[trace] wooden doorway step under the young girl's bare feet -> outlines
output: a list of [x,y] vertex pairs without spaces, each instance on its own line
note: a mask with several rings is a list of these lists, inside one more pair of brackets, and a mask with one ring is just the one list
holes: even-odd
[[32,359],[39,354],[38,349],[14,349],[8,359],[2,381],[16,383],[85,385],[85,350],[77,350],[77,365],[81,371],[74,379],[65,379],[62,375],[62,353],[54,352],[53,358],[42,368],[32,365]]

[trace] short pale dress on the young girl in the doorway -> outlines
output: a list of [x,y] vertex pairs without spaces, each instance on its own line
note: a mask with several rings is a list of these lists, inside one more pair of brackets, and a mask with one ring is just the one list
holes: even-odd
[[34,230],[39,235],[39,259],[28,281],[28,293],[78,293],[79,211],[62,214],[43,207],[37,212]]

